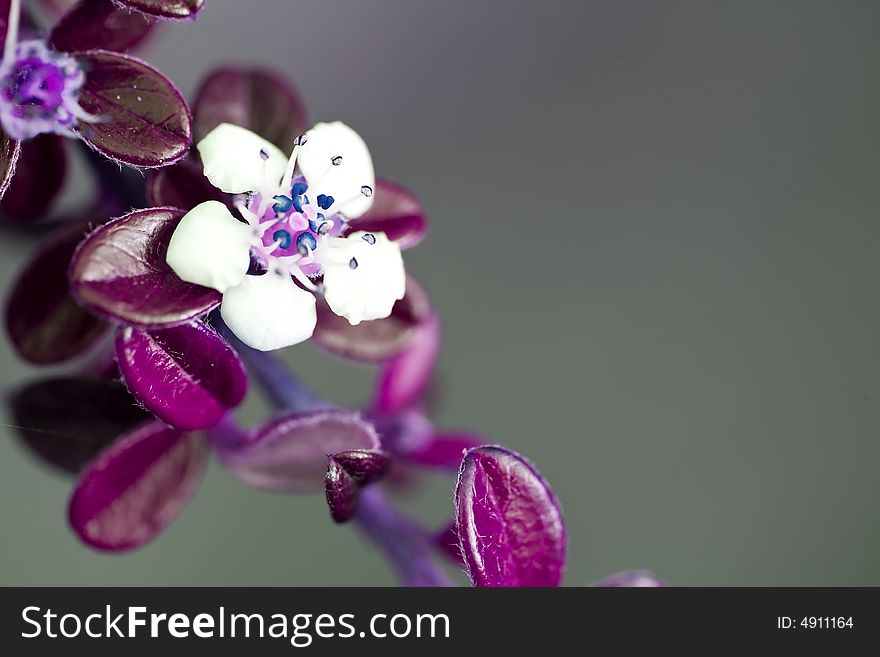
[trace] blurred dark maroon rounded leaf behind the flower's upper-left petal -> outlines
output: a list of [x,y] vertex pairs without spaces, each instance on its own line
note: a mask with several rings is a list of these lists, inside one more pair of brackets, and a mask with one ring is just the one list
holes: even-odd
[[307,129],[299,94],[284,78],[263,69],[222,68],[212,73],[193,103],[196,142],[221,123],[247,128],[284,152]]

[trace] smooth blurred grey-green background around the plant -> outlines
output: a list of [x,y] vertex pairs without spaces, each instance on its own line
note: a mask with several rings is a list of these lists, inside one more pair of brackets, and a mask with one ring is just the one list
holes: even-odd
[[[186,93],[221,62],[287,71],[419,195],[436,419],[544,472],[569,585],[880,584],[880,3],[209,0],[145,56]],[[4,280],[29,245],[4,233]],[[36,375],[4,338],[4,388]],[[154,544],[96,555],[69,481],[4,438],[0,583],[393,582],[320,498],[216,465]],[[451,491],[404,502],[439,524]]]

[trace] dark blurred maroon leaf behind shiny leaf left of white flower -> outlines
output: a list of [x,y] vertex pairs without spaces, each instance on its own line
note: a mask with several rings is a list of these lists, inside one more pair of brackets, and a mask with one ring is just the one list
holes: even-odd
[[41,245],[12,283],[6,331],[26,361],[49,365],[79,356],[107,331],[107,324],[70,295],[67,267],[86,225],[75,222]]

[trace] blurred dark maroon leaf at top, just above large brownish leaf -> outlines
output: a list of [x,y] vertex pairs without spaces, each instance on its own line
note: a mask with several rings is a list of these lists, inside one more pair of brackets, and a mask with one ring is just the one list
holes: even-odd
[[80,0],[52,28],[49,45],[67,52],[125,52],[143,42],[155,24],[155,18],[120,9],[112,0]]

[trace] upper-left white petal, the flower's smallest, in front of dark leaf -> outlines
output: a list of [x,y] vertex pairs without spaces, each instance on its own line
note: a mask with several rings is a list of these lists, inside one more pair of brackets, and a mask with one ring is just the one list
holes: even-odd
[[287,167],[287,156],[277,146],[231,123],[218,125],[197,147],[205,177],[227,194],[274,193]]

